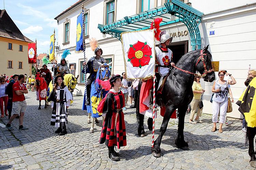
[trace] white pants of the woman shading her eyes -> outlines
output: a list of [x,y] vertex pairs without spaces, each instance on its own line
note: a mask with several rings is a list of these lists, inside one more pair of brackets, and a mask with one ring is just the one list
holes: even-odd
[[219,123],[225,123],[227,108],[228,108],[228,100],[221,103],[212,101],[212,122],[214,123],[218,122],[218,114],[219,114]]

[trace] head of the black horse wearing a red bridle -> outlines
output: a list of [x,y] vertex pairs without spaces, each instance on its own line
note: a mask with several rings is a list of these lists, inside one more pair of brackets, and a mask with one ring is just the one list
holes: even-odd
[[[209,45],[208,45],[209,46]],[[206,82],[215,80],[214,69],[212,68],[212,54],[208,51],[208,46],[200,50],[199,57],[196,58],[196,69],[199,71]]]

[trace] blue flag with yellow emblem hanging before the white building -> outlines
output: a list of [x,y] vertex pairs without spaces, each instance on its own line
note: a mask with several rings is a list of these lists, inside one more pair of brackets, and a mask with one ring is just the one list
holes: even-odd
[[75,53],[82,52],[84,50],[84,31],[83,31],[83,14],[80,13],[76,21],[76,47]]

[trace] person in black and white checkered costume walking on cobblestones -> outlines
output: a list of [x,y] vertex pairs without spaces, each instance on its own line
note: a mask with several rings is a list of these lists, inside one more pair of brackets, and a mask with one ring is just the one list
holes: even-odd
[[54,87],[49,95],[48,102],[51,102],[53,112],[51,125],[58,128],[55,133],[59,135],[67,134],[66,124],[68,123],[68,107],[70,106],[70,100],[73,100],[72,95],[68,87],[63,83],[62,74],[57,74],[54,79]]

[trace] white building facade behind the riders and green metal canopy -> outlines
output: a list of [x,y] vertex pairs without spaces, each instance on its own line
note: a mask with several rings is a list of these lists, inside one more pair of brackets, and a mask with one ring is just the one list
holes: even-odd
[[[187,0],[183,2],[188,3]],[[77,89],[74,95],[84,95],[84,75],[81,72],[83,53],[75,53],[76,45],[76,18],[85,8],[86,57],[95,56],[89,46],[89,38],[96,38],[103,50],[102,56],[108,62],[112,61],[112,73],[121,74],[125,71],[121,42],[115,37],[106,35],[103,38],[98,24],[108,24],[125,16],[132,16],[163,5],[167,0],[80,0],[63,11],[55,19],[58,21],[58,63],[65,49],[71,55],[67,57],[72,72],[79,74]],[[256,69],[256,0],[189,0],[191,7],[203,12],[202,22],[199,25],[201,48],[209,46],[213,61],[219,61],[219,70],[227,70],[236,79],[237,84],[231,86],[235,102],[244,89],[248,66]],[[170,49],[173,51],[174,61],[184,53],[191,51],[192,46],[187,27],[181,23],[173,23],[160,27],[173,35]],[[210,35],[214,31],[214,35]],[[218,72],[215,72],[216,78]],[[212,113],[210,98],[213,83],[201,81],[205,89],[203,96],[203,113]],[[241,118],[238,106],[233,103],[233,112],[229,117]]]

